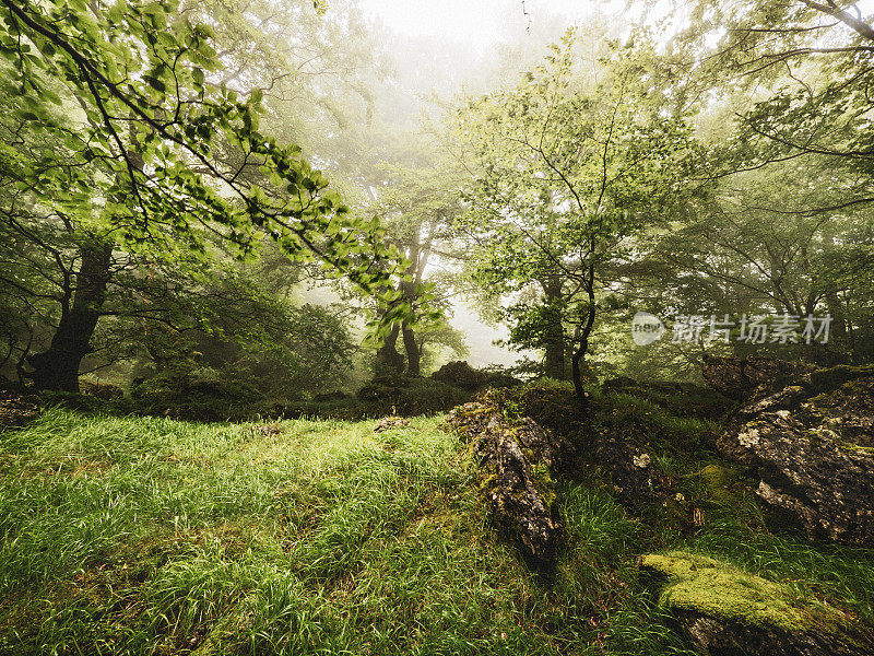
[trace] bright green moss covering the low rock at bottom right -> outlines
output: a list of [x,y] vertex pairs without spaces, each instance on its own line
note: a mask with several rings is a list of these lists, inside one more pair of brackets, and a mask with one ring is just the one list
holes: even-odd
[[819,629],[843,622],[838,611],[798,599],[791,590],[705,555],[673,551],[642,557],[643,567],[668,576],[659,602],[721,620],[786,631]]

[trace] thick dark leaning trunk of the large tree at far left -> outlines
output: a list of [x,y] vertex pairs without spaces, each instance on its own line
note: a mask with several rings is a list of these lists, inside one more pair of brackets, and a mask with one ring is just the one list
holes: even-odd
[[72,306],[62,308],[48,350],[27,359],[34,367],[28,377],[38,389],[79,391],[79,365],[91,353],[91,338],[106,300],[113,247],[87,245],[82,247],[81,255]]

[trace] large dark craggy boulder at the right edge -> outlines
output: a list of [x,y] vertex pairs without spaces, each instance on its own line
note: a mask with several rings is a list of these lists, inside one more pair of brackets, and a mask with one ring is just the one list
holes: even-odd
[[759,479],[769,525],[872,547],[874,367],[836,368],[754,396],[732,415],[717,448]]

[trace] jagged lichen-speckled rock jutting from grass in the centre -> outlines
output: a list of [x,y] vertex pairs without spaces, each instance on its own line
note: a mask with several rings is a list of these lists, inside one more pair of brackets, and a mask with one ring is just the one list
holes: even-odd
[[570,443],[529,417],[508,419],[494,393],[456,408],[446,425],[471,445],[495,525],[533,564],[553,567],[564,535],[553,475],[572,457]]

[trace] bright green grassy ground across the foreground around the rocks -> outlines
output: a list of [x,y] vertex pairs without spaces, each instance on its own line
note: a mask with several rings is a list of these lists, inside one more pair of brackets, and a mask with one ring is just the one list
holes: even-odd
[[[712,427],[616,398],[616,421]],[[688,449],[656,458],[700,522],[636,516],[581,475],[557,485],[556,571],[532,572],[441,419],[375,432],[48,408],[0,433],[0,653],[690,654],[638,564],[675,549],[874,623],[871,550],[772,535]]]

